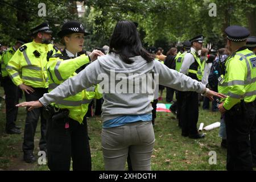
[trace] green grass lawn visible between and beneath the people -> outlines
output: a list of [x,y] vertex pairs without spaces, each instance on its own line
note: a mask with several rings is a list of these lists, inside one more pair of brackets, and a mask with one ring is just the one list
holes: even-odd
[[[0,88],[0,96],[2,96]],[[164,93],[165,94],[165,93]],[[165,95],[163,96],[165,101]],[[3,102],[2,102],[3,106]],[[0,114],[0,169],[16,170],[48,170],[46,165],[26,164],[22,161],[22,135],[5,134],[5,114]],[[17,124],[24,131],[26,111],[19,109]],[[220,121],[219,113],[212,113],[200,109],[198,125],[204,126]],[[40,123],[40,122],[39,122]],[[40,138],[40,124],[36,130],[36,144],[34,154],[38,154],[38,141]],[[92,169],[104,170],[104,160],[101,150],[101,126],[100,117],[88,119],[88,132],[92,153]],[[226,150],[220,147],[221,138],[218,137],[218,129],[204,131],[204,139],[189,139],[181,137],[181,130],[177,126],[175,115],[171,113],[157,113],[155,120],[155,147],[151,158],[152,170],[225,170]],[[208,155],[210,151],[216,151],[217,164],[210,165]]]

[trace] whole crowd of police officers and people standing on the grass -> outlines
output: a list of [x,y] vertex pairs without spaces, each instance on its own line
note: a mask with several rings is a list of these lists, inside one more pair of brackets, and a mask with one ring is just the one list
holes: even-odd
[[[90,171],[86,115],[92,113],[92,100],[97,99],[96,112],[103,120],[105,169],[124,170],[127,160],[129,169],[150,170],[156,104],[163,100],[166,88],[166,102],[172,104],[170,110],[177,116],[182,137],[205,137],[197,130],[200,98],[203,109],[209,109],[212,101],[212,111],[221,113],[221,146],[228,151],[226,168],[253,169],[256,38],[249,37],[247,28],[230,26],[225,30],[225,48],[203,48],[204,37],[197,35],[164,55],[162,48],[142,47],[137,26],[129,20],[119,21],[109,47],[89,53],[83,50],[89,33],[77,21],[64,23],[58,32],[64,45],[61,50],[51,44],[48,23],[31,30],[32,42],[17,40],[9,49],[1,46],[7,134],[21,133],[15,125],[18,107],[27,107],[24,161],[36,161],[34,135],[40,117],[39,148],[47,154],[49,169],[69,170],[72,159],[73,170]],[[122,92],[117,91],[118,86]],[[26,102],[18,104],[22,93]]]

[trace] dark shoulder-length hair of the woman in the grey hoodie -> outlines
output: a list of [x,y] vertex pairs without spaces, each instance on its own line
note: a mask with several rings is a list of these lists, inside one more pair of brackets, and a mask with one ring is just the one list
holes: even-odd
[[129,20],[121,20],[116,24],[110,39],[109,52],[117,53],[127,64],[133,63],[129,59],[130,55],[142,56],[148,63],[155,58],[142,47],[137,27]]

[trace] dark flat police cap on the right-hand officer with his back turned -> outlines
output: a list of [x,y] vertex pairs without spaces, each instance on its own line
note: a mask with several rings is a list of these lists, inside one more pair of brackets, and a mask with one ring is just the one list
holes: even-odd
[[250,35],[250,31],[241,26],[229,26],[225,30],[226,37],[232,42],[244,42]]

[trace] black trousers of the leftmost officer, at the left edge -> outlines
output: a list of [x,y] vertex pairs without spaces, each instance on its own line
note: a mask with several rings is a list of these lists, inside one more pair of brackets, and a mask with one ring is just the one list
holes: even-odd
[[3,89],[5,90],[6,104],[6,131],[15,127],[15,121],[18,114],[19,88],[16,86],[9,76],[2,78]]

